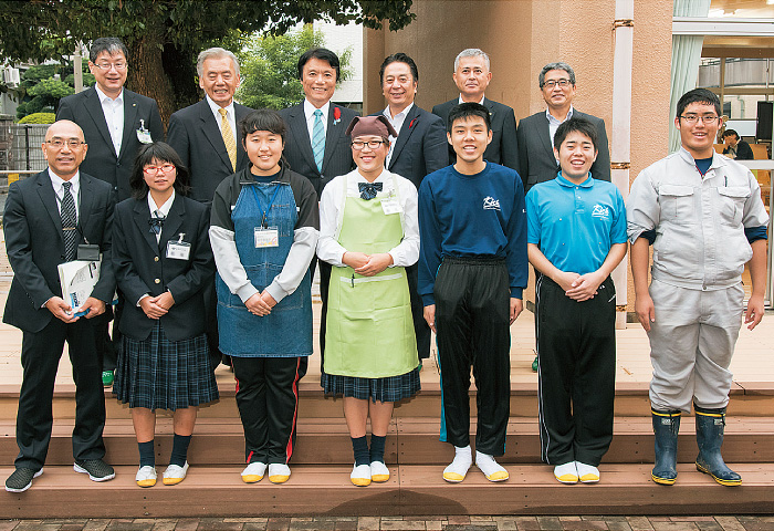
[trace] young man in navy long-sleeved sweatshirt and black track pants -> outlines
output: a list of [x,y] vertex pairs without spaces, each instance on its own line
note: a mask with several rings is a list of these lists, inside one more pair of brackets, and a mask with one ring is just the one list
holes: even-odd
[[526,287],[526,217],[519,174],[488,163],[489,110],[463,103],[449,112],[447,138],[457,163],[419,187],[419,283],[425,320],[438,336],[441,440],[454,446],[443,479],[462,481],[472,465],[470,367],[478,394],[475,465],[490,481],[508,479],[512,324]]

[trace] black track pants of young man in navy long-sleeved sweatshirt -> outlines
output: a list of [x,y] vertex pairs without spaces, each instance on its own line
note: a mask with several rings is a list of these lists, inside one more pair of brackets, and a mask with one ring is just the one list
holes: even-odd
[[502,259],[446,258],[435,285],[441,366],[441,440],[470,444],[470,367],[475,378],[475,449],[505,451],[511,399],[510,282]]

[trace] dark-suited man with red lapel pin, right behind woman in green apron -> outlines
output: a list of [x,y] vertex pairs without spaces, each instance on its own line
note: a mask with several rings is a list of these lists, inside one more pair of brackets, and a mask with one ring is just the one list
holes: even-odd
[[[426,175],[449,166],[449,148],[443,121],[414,104],[419,84],[419,70],[405,53],[394,53],[379,69],[381,93],[387,107],[381,112],[398,137],[390,137],[387,169],[407,178],[419,189]],[[430,357],[430,327],[423,315],[422,300],[417,293],[417,264],[406,268],[411,295],[414,331],[420,358]]]

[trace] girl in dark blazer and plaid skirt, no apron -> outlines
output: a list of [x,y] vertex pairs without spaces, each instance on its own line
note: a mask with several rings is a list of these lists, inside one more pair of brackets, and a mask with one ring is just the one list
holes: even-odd
[[207,207],[186,197],[188,169],[167,144],[137,153],[133,198],[116,206],[113,264],[126,298],[122,353],[113,393],[132,408],[139,448],[139,487],[156,485],[156,409],[174,412],[175,437],[164,485],[188,471],[197,408],[218,399],[209,366],[202,289],[212,282]]

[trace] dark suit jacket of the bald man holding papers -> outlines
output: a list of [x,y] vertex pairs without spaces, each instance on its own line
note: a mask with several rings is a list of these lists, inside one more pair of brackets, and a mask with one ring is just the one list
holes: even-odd
[[[109,306],[115,292],[111,262],[114,194],[109,185],[81,171],[80,196],[79,243],[85,237],[102,251],[100,281],[92,296]],[[62,218],[48,169],[9,187],[3,230],[13,281],[2,320],[24,332],[40,332],[56,319],[43,304],[62,296],[56,267],[65,261]]]

